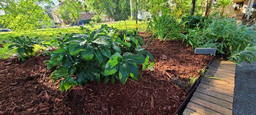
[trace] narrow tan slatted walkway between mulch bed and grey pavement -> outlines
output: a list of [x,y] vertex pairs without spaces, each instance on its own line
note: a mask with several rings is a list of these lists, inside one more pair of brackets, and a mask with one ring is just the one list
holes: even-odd
[[183,115],[232,115],[235,72],[234,62],[213,61]]

